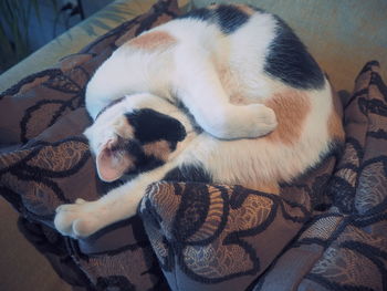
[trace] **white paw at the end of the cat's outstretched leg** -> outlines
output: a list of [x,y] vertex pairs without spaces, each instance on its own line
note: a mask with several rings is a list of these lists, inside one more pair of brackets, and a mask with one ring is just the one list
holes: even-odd
[[54,226],[63,236],[75,239],[88,237],[103,227],[97,214],[96,202],[76,199],[75,204],[56,208]]

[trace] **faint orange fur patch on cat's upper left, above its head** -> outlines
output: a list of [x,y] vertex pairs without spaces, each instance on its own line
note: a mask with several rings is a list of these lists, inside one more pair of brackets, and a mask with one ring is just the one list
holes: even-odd
[[151,31],[130,40],[127,44],[139,50],[166,50],[177,43],[177,40],[165,31]]

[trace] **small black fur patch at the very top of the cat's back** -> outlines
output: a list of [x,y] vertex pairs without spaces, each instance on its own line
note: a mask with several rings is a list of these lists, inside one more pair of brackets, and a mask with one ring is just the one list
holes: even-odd
[[230,34],[242,27],[249,15],[233,6],[219,6],[216,9],[217,22],[223,33]]

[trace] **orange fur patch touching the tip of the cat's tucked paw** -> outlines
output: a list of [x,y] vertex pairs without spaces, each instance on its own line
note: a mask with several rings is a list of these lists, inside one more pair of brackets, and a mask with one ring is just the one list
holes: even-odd
[[293,145],[300,139],[302,125],[311,110],[307,96],[296,91],[275,94],[265,105],[275,112],[278,127],[268,135],[268,141]]

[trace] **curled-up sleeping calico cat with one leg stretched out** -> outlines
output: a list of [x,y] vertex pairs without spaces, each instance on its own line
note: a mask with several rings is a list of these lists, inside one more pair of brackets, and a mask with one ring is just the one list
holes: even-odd
[[337,100],[294,32],[249,6],[195,10],[118,48],[86,87],[102,180],[132,180],[56,209],[86,237],[136,214],[161,179],[279,191],[343,142]]

